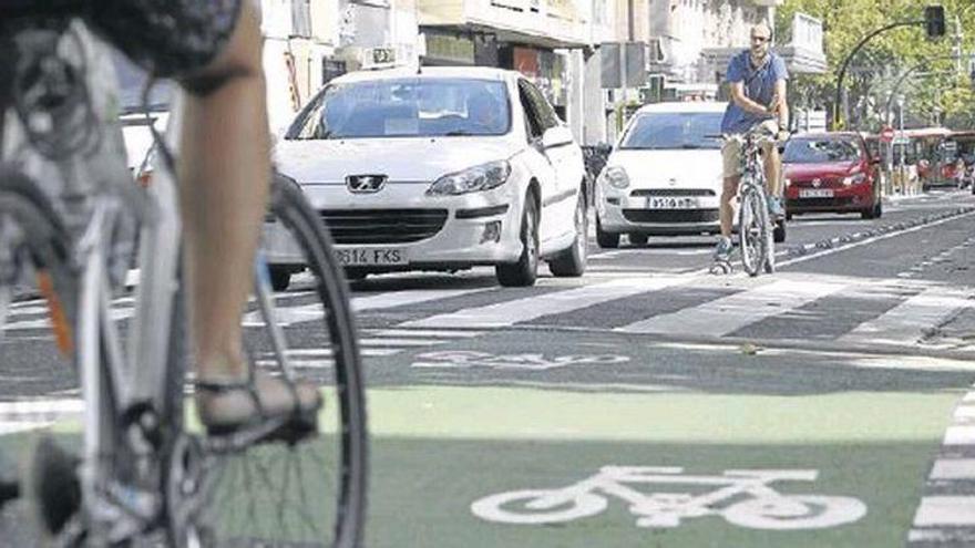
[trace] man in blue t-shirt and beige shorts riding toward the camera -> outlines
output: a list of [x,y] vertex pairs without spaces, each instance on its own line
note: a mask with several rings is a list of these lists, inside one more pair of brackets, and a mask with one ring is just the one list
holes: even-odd
[[[761,130],[782,138],[781,128],[789,121],[786,104],[786,81],[789,72],[786,62],[770,49],[772,31],[764,23],[751,28],[751,46],[731,58],[726,81],[730,85],[731,101],[721,120],[721,133],[741,135]],[[764,174],[769,196],[769,213],[773,218],[784,215],[782,208],[781,162],[774,143],[763,145]],[[721,190],[721,237],[715,249],[715,260],[727,262],[731,254],[731,200],[738,194],[741,180],[739,139],[726,138],[721,148],[723,157],[723,187]]]

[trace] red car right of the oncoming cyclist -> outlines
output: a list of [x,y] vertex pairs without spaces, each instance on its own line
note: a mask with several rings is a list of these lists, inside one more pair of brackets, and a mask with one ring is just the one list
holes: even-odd
[[859,133],[794,135],[782,157],[786,218],[803,213],[859,213],[881,216],[880,159]]

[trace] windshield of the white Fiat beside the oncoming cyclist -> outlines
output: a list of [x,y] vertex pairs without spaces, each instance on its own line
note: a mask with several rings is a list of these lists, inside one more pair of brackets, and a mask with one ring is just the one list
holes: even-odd
[[720,148],[721,116],[719,112],[639,114],[619,148]]

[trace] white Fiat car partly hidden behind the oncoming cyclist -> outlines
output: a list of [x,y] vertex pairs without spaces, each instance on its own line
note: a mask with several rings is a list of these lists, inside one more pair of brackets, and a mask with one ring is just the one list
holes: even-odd
[[720,231],[726,103],[655,103],[629,118],[596,182],[596,240]]

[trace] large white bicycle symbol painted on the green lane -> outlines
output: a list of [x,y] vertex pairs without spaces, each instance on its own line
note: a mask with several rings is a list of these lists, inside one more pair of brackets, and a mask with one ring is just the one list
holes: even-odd
[[[638,527],[673,528],[681,520],[721,516],[751,529],[822,529],[850,524],[866,515],[866,505],[852,497],[783,495],[772,482],[812,482],[814,469],[725,471],[720,476],[681,475],[681,467],[604,466],[582,482],[561,489],[514,490],[474,502],[471,511],[488,521],[543,525],[595,516],[609,497],[629,504]],[[627,484],[712,486],[714,490],[645,494]]]

